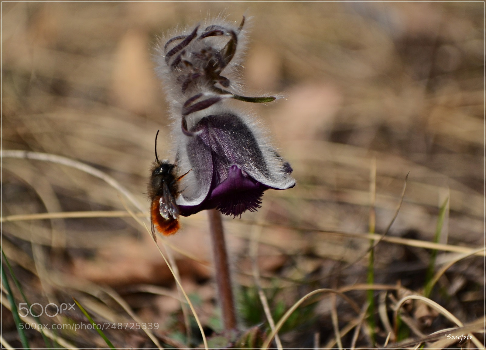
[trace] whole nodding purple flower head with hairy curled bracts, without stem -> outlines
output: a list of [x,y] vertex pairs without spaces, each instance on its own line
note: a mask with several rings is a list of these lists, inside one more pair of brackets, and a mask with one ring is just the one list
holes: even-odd
[[260,208],[263,191],[295,185],[292,168],[238,102],[275,97],[241,95],[246,32],[222,18],[168,36],[157,47],[174,122],[175,164],[186,173],[177,198],[180,214],[217,208],[239,216]]

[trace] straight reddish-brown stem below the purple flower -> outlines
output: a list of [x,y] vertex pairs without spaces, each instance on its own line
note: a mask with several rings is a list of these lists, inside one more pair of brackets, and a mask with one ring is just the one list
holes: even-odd
[[210,209],[208,210],[208,218],[223,325],[225,330],[236,329],[235,302],[231,288],[231,275],[229,274],[228,254],[226,252],[221,214],[215,209]]

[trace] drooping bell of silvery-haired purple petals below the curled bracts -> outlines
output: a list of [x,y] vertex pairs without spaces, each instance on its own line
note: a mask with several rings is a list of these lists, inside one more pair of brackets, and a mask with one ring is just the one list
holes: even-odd
[[194,181],[188,187],[199,184],[204,191],[194,197],[182,187],[177,200],[180,215],[217,208],[236,217],[260,208],[263,191],[294,187],[292,167],[273,149],[265,149],[264,154],[240,117],[230,113],[203,117],[189,132],[193,136],[183,153],[194,170]]

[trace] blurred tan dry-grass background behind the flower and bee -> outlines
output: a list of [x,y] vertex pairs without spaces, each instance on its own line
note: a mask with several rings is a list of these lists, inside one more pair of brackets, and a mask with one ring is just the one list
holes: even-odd
[[[255,230],[260,283],[278,319],[313,289],[366,282],[368,259],[356,259],[369,241],[326,232],[368,233],[374,203],[374,231],[384,233],[407,174],[403,204],[387,235],[433,241],[446,203],[439,242],[484,245],[483,5],[2,3],[2,148],[87,163],[115,178],[148,211],[145,191],[158,129],[159,158],[174,159],[168,105],[154,72],[157,37],[221,12],[238,23],[251,17],[245,23],[251,28],[245,95],[285,96],[251,107],[294,168],[297,185],[267,191],[259,212],[225,217],[224,224],[242,328],[265,320],[249,256]],[[164,344],[170,345],[164,337],[199,344],[197,328],[187,333],[173,298],[174,278],[150,235],[129,215],[7,221],[46,212],[124,211],[114,188],[65,166],[2,162],[2,247],[31,303],[60,304],[76,296],[99,322],[130,318],[106,297],[109,290],[140,319],[158,322],[154,333]],[[175,247],[182,285],[210,336],[221,324],[206,214],[181,223],[166,241]],[[417,292],[431,254],[381,242],[375,282],[400,281]],[[439,252],[438,263],[451,254]],[[434,300],[463,322],[484,315],[482,258],[454,265],[440,285],[445,292]],[[353,293],[365,305],[366,292]],[[305,305],[282,330],[283,344],[312,347],[319,339],[323,347],[335,346],[331,306],[329,298]],[[337,310],[340,328],[356,317],[342,300]],[[426,316],[430,324],[415,317],[424,334],[450,326],[443,317]],[[3,337],[19,346],[6,306],[2,317]],[[69,317],[87,322],[81,314]],[[61,333],[78,347],[104,346],[93,334]],[[379,320],[376,334],[382,344],[387,332]],[[38,333],[28,336],[32,346],[43,346]],[[153,346],[141,331],[107,336],[119,347]],[[358,344],[370,344],[369,333],[362,332]]]

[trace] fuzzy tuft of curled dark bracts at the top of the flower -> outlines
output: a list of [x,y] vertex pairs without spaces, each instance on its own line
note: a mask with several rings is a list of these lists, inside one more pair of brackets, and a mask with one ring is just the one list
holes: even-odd
[[239,26],[216,18],[160,40],[158,73],[173,103],[182,105],[197,93],[239,92],[246,41],[243,24],[244,17]]

